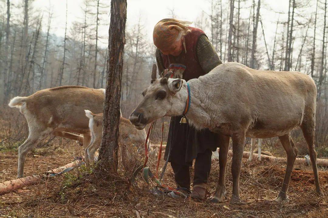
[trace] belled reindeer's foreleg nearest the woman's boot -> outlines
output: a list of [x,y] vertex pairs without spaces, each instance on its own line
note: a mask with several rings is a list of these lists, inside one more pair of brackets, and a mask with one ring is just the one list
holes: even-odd
[[[215,193],[209,198],[212,203],[220,203],[227,196],[227,190],[225,187],[225,171],[228,158],[228,149],[229,149],[229,136],[219,136],[219,180],[217,182]],[[217,151],[216,151],[217,152]]]

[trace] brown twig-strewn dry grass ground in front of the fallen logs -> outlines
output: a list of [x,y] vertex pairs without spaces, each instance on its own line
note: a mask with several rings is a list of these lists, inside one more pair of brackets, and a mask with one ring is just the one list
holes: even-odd
[[[246,162],[246,160],[244,160]],[[163,164],[163,161],[161,162]],[[154,166],[154,165],[153,165]],[[242,167],[240,197],[243,205],[196,202],[190,198],[173,199],[154,196],[141,178],[129,181],[129,173],[120,165],[119,175],[107,179],[92,173],[94,164],[40,183],[30,188],[0,196],[0,215],[11,217],[327,217],[328,172],[320,171],[319,177],[324,196],[314,193],[313,174],[308,167],[296,166],[293,171],[289,203],[272,201],[281,187],[284,163],[269,164],[254,161]],[[228,161],[226,186],[232,192],[231,159]],[[209,192],[215,191],[218,162],[213,161],[209,178]],[[191,169],[191,174],[193,171]],[[174,186],[172,168],[169,166],[165,183]],[[32,215],[32,216],[31,216]]]

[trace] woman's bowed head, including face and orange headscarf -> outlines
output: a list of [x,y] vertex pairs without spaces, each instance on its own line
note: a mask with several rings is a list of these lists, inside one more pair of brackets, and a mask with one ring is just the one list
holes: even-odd
[[[163,19],[159,21],[153,32],[155,46],[164,55],[178,56],[183,50],[184,36],[190,33],[188,21]],[[184,48],[185,49],[185,48]]]

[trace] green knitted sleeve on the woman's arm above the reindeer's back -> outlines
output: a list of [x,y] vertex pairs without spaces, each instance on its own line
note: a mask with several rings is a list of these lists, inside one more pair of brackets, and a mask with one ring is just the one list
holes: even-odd
[[202,35],[198,39],[197,57],[200,66],[206,74],[217,65],[222,64],[221,59],[206,35]]

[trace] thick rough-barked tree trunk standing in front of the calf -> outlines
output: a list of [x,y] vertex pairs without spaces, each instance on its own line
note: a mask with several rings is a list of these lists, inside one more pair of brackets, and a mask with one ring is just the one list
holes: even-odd
[[[99,149],[100,172],[117,173],[121,80],[125,45],[126,0],[112,0],[109,27],[107,84],[103,135]],[[101,174],[104,175],[104,174]]]

